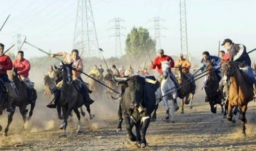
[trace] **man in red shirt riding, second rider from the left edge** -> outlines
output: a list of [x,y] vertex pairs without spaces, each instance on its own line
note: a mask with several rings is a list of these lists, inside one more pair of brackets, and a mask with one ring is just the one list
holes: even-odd
[[33,94],[33,84],[28,78],[30,63],[27,59],[24,58],[24,52],[18,51],[17,58],[13,61],[14,68],[17,69],[17,74],[20,76],[20,79],[26,84],[28,87],[28,100],[30,104],[34,104],[34,94]]

